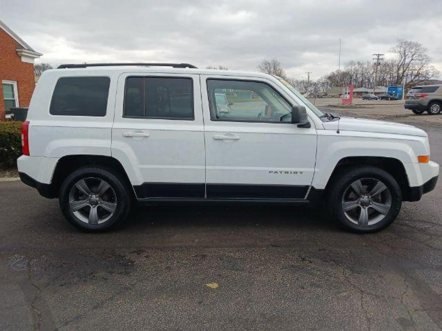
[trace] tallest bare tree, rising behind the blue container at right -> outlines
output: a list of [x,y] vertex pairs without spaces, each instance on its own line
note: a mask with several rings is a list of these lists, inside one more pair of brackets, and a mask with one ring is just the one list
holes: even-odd
[[430,64],[428,49],[419,42],[400,39],[390,52],[396,55],[396,84],[412,86],[439,74]]

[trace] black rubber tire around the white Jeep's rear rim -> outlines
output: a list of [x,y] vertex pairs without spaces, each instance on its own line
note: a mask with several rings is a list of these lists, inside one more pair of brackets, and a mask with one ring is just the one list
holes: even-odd
[[[113,215],[102,223],[85,223],[79,217],[77,217],[73,211],[71,211],[69,204],[71,189],[78,181],[82,179],[86,179],[87,181],[105,181],[105,183],[109,184],[110,188],[112,189],[110,194],[116,197],[114,201],[116,208]],[[74,171],[68,177],[66,177],[65,181],[63,181],[60,188],[59,203],[61,211],[72,226],[88,232],[102,232],[109,229],[114,229],[120,226],[126,220],[132,208],[133,192],[131,191],[130,184],[127,183],[127,180],[119,176],[117,173],[113,173],[112,170],[99,167],[84,167]],[[96,209],[98,209],[98,207],[96,207]],[[85,207],[84,211],[87,213],[87,210],[88,206]]]

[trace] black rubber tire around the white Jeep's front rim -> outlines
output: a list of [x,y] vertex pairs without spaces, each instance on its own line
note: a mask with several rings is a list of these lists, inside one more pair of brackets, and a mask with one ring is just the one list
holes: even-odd
[[[389,189],[391,205],[388,213],[381,221],[371,225],[358,225],[351,222],[344,213],[342,208],[343,196],[351,183],[366,178],[381,181],[385,184]],[[354,233],[372,233],[385,229],[396,219],[402,206],[402,192],[396,180],[385,170],[370,165],[349,167],[336,173],[328,190],[328,195],[328,207],[338,226]]]

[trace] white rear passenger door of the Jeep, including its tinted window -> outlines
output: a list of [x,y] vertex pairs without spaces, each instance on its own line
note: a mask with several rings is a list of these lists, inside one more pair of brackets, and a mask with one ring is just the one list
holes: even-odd
[[204,154],[198,75],[120,75],[112,155],[138,199],[204,198]]

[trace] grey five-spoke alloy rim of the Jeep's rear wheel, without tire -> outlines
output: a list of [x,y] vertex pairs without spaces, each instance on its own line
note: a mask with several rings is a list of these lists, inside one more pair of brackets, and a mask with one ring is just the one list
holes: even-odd
[[102,179],[80,179],[69,191],[69,208],[81,222],[101,224],[117,210],[117,195]]

